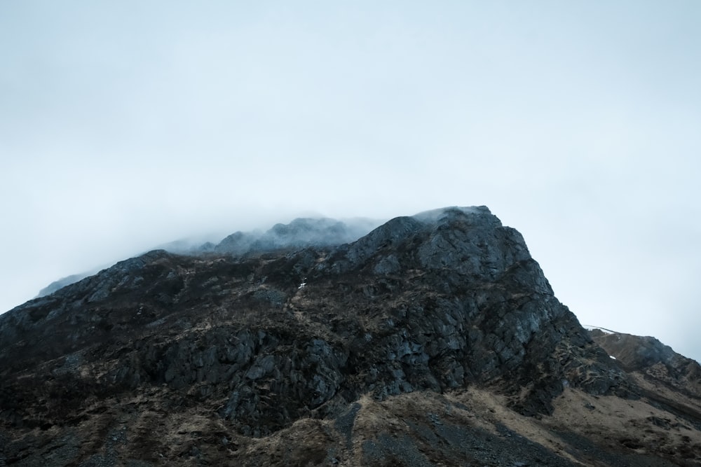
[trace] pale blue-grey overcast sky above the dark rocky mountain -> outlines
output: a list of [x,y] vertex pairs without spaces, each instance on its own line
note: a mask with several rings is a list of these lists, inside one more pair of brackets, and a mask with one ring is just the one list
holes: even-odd
[[187,236],[486,204],[701,359],[701,2],[0,2],[0,309]]

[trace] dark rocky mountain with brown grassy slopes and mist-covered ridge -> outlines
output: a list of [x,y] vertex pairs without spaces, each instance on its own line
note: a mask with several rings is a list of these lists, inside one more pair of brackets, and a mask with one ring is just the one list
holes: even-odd
[[0,315],[0,466],[701,465],[697,363],[580,326],[486,207],[307,225]]

